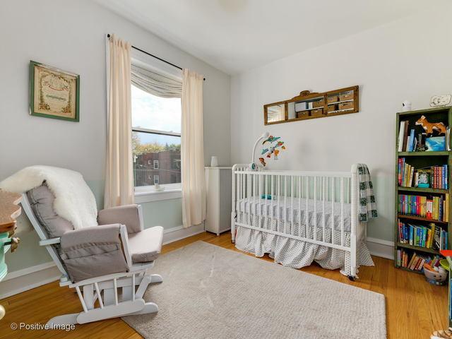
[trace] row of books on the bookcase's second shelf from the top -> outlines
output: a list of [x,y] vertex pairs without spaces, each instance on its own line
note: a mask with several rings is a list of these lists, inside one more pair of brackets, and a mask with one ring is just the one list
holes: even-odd
[[415,169],[406,162],[405,157],[400,157],[398,158],[398,186],[448,189],[448,165]]

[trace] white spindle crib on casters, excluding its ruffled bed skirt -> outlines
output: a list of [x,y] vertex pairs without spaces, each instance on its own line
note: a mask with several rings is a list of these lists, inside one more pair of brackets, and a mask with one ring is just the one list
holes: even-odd
[[237,227],[246,227],[348,251],[348,278],[354,280],[357,251],[366,239],[358,203],[357,165],[351,172],[254,172],[237,164],[232,167],[232,242]]

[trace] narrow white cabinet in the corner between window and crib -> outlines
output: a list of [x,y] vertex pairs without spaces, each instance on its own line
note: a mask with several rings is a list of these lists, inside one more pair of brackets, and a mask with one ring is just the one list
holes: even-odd
[[206,167],[206,231],[231,229],[232,167]]

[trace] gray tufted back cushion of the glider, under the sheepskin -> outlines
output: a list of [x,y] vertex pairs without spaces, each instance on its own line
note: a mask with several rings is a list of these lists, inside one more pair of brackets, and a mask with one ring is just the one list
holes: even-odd
[[64,232],[73,230],[71,222],[55,213],[55,196],[45,182],[28,191],[27,196],[37,221],[44,227],[49,238],[61,237]]

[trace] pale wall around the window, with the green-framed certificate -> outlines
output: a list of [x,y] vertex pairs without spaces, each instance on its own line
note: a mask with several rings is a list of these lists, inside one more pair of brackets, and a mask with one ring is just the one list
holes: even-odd
[[[28,165],[75,169],[83,174],[102,206],[107,33],[115,33],[145,51],[206,76],[203,102],[206,164],[211,155],[218,155],[222,165],[230,164],[230,76],[227,74],[91,1],[3,1],[0,32],[0,180]],[[28,114],[30,60],[80,74],[80,122]],[[156,208],[150,208],[145,214],[148,225],[155,222],[169,227],[181,225],[180,199],[162,201],[158,206],[155,220]],[[24,218],[20,222],[28,223]],[[172,225],[174,222],[178,225]],[[49,261],[44,249],[37,249],[33,232],[21,237],[23,243],[18,251],[8,255],[10,270]]]

